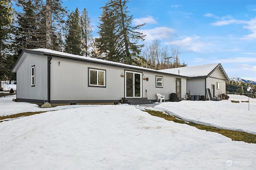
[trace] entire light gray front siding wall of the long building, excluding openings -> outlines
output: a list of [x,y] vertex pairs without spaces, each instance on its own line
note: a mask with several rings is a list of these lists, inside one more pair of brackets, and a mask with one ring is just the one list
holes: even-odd
[[[106,70],[106,88],[88,87],[88,67]],[[150,100],[157,93],[170,98],[176,92],[175,77],[106,64],[53,57],[51,61],[51,100],[121,100],[124,98],[125,70],[142,72],[149,81],[142,80],[142,97],[146,90]],[[156,76],[163,76],[163,88],[156,88]],[[178,78],[178,77],[177,77]],[[186,79],[182,78],[182,97],[186,94]]]

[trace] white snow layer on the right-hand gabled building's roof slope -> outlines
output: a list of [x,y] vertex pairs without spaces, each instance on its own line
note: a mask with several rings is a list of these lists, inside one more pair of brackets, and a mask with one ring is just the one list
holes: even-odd
[[210,74],[210,72],[212,72],[212,70],[214,70],[217,66],[218,64],[204,64],[199,66],[169,68],[160,71],[170,74],[179,74],[181,76],[200,77],[208,76],[208,74]]

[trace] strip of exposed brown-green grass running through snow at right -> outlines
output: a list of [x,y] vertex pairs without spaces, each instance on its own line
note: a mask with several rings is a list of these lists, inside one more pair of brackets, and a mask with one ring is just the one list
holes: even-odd
[[199,125],[199,124],[192,123],[192,122],[188,123],[187,121],[177,119],[176,117],[174,117],[172,115],[166,115],[165,113],[162,113],[161,111],[147,110],[146,112],[148,112],[150,115],[153,115],[153,116],[162,117],[168,121],[174,121],[176,123],[187,124],[187,125],[196,127],[197,129],[200,129],[200,130],[206,130],[206,131],[220,133],[221,135],[231,138],[232,141],[244,141],[246,143],[256,143],[256,135],[254,135],[254,134],[226,130],[226,129],[218,129],[215,127]]

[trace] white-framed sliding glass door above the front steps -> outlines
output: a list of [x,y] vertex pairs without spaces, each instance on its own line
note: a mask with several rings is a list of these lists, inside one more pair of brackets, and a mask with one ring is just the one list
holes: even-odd
[[125,71],[125,97],[142,98],[142,73]]

